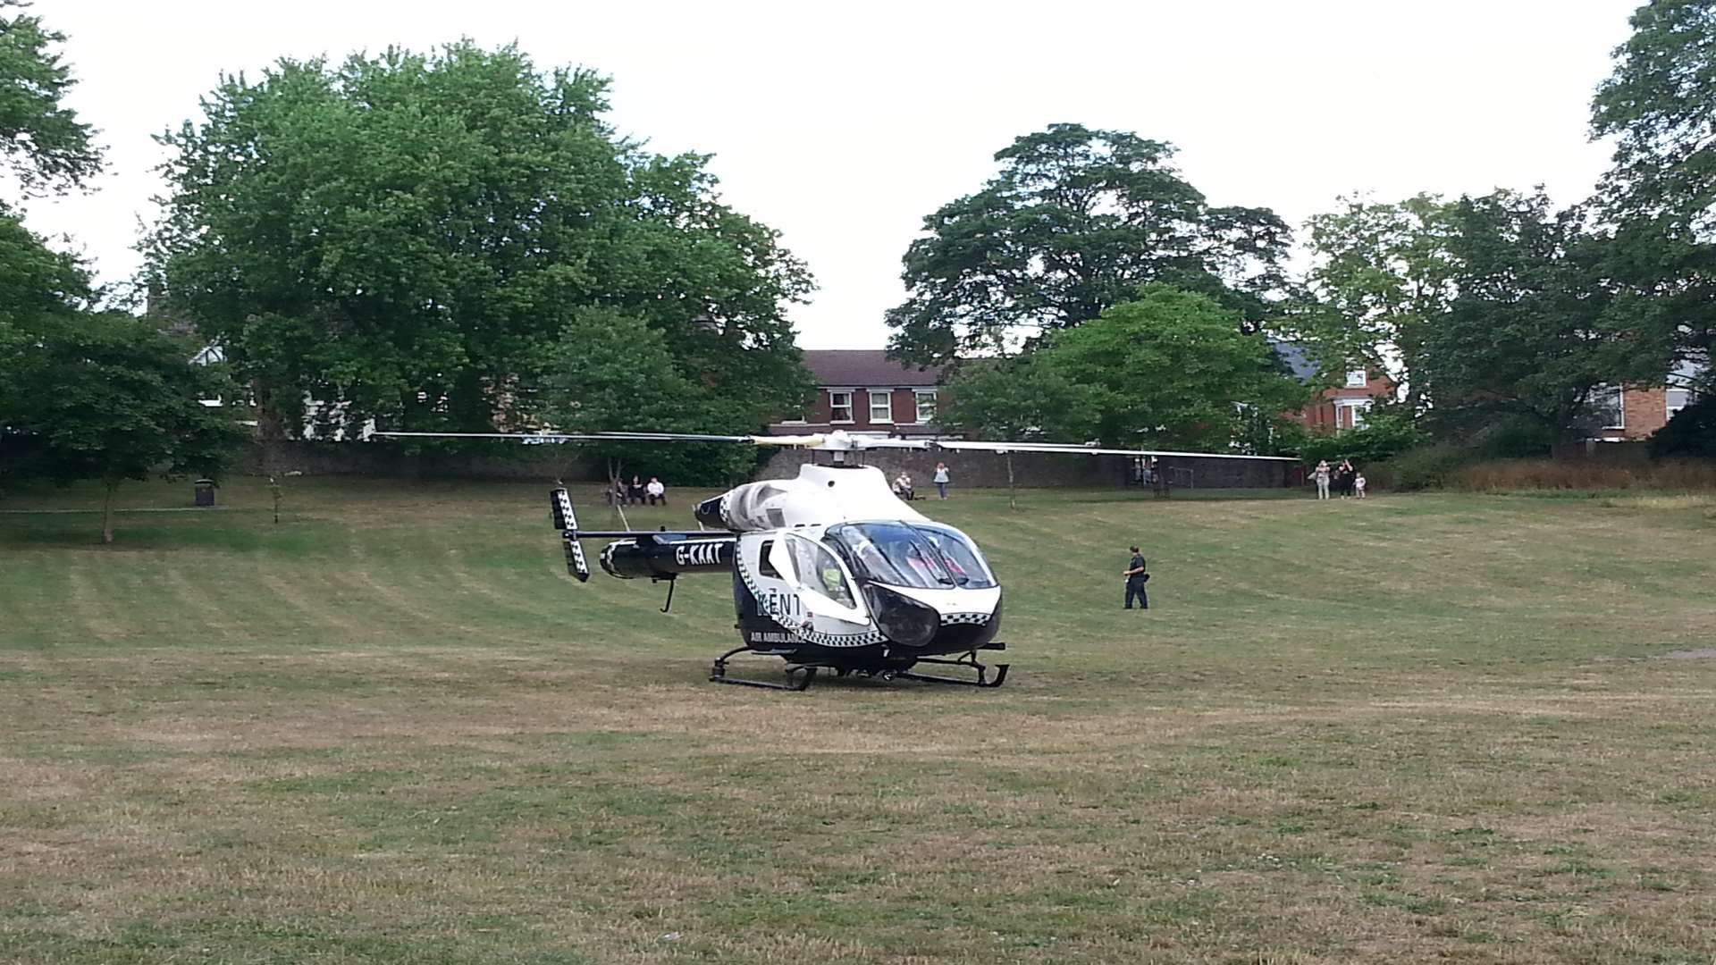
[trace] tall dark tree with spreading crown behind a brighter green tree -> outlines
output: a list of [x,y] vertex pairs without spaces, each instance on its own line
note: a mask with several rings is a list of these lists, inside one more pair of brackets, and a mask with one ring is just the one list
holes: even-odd
[[1179,177],[1174,146],[1054,124],[995,155],[1000,173],[923,220],[904,256],[891,350],[920,364],[1012,347],[1018,330],[1083,325],[1169,282],[1256,326],[1285,285],[1289,228],[1266,208],[1217,208]]

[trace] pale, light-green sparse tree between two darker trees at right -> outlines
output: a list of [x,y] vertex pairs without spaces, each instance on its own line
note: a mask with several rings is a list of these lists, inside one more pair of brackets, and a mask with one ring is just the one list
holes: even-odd
[[1426,330],[1453,297],[1448,204],[1419,194],[1400,203],[1344,197],[1309,222],[1313,299],[1284,314],[1325,373],[1364,366],[1399,373],[1423,405]]

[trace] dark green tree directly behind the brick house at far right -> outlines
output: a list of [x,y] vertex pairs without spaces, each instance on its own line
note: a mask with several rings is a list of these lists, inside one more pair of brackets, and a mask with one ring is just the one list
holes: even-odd
[[1524,417],[1556,440],[1591,431],[1604,386],[1659,381],[1654,306],[1608,273],[1615,240],[1584,209],[1498,191],[1450,208],[1457,295],[1424,335],[1421,381],[1445,428]]

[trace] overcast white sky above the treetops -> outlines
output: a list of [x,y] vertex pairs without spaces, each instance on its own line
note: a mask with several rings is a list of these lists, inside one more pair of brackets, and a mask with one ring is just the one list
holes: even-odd
[[1172,141],[1211,203],[1296,227],[1354,191],[1544,184],[1579,201],[1608,161],[1586,141],[1591,91],[1637,2],[36,0],[70,34],[72,105],[101,129],[110,173],[33,203],[29,225],[125,280],[160,192],[149,136],[194,117],[221,70],[517,39],[541,67],[611,76],[621,132],[716,155],[726,201],[817,276],[791,313],[801,345],[880,347],[921,218],[1054,122]]

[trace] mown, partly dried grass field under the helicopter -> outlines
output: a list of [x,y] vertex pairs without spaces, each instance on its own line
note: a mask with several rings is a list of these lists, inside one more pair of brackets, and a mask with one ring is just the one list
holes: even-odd
[[958,493],[1007,685],[772,694],[546,486],[288,486],[0,515],[0,962],[1716,958],[1711,496]]

